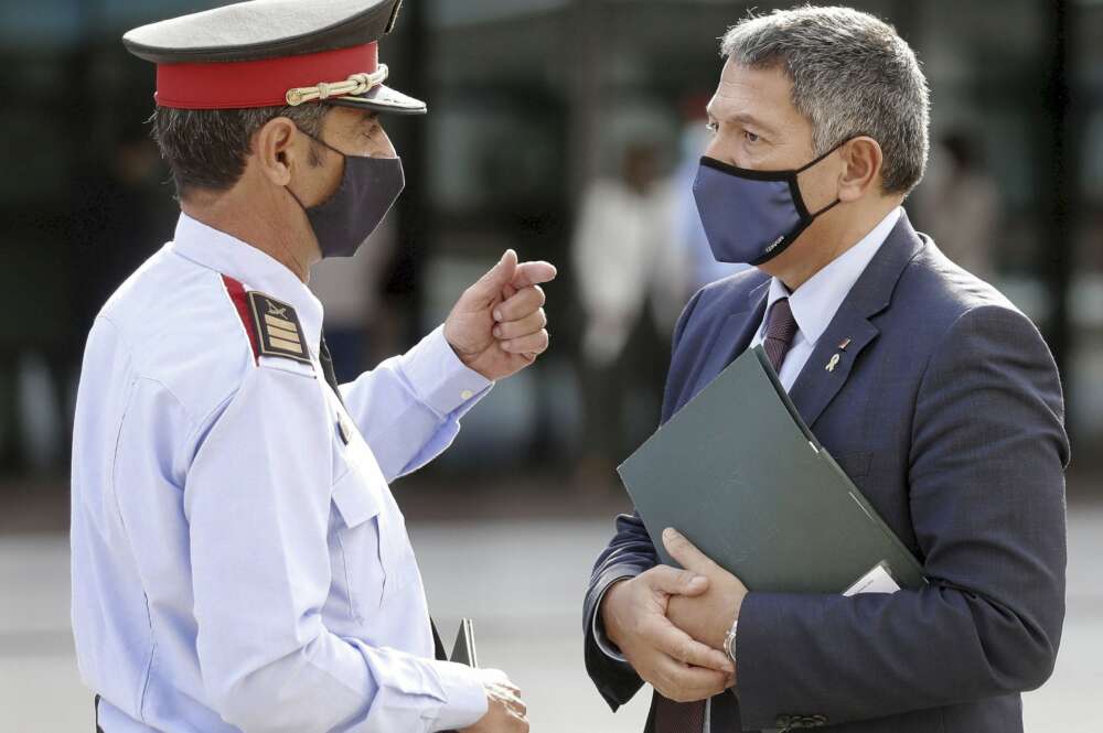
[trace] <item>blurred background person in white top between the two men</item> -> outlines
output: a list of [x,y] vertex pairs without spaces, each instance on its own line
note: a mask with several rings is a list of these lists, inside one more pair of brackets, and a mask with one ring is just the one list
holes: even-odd
[[619,485],[614,466],[645,433],[629,408],[654,403],[670,356],[664,334],[685,302],[688,263],[655,145],[629,143],[618,173],[586,190],[571,246],[585,317],[579,489]]

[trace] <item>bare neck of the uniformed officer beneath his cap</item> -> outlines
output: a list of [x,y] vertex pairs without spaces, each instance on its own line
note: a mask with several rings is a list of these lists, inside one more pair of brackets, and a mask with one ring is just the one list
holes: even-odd
[[[283,192],[281,195],[287,196]],[[280,206],[271,196],[247,196],[236,187],[225,193],[193,192],[181,197],[180,208],[193,219],[225,231],[265,252],[307,282],[317,260],[303,242],[312,241],[304,216]],[[303,227],[307,231],[302,231]]]

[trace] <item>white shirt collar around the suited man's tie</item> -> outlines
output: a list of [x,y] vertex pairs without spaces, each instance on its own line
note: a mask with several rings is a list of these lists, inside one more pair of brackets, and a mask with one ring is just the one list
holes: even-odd
[[781,280],[773,278],[770,281],[767,313],[777,301],[789,298],[789,304],[793,309],[793,317],[801,330],[801,335],[812,344],[820,341],[820,336],[831,325],[832,319],[835,317],[835,313],[838,312],[843,301],[850,293],[854,283],[858,281],[870,260],[874,259],[874,255],[888,239],[902,211],[897,206],[889,212],[858,244],[832,260],[827,267],[816,272],[795,292],[790,293],[789,288]]

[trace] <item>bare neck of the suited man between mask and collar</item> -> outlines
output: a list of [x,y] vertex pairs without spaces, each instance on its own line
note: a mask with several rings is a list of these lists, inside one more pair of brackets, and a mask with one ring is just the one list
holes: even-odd
[[790,292],[795,292],[854,248],[901,203],[902,197],[881,200],[857,215],[836,206],[817,218],[780,257],[761,265],[759,269],[781,280]]

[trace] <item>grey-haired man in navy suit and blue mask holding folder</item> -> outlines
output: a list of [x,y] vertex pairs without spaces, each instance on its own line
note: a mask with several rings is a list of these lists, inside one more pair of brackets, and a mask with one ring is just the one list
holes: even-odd
[[586,597],[587,669],[613,709],[650,682],[655,733],[1021,731],[1020,692],[1052,671],[1064,616],[1053,359],[900,207],[928,94],[893,29],[800,8],[739,23],[722,50],[694,193],[717,259],[757,269],[686,306],[663,419],[761,344],[930,583],[748,593],[677,532],[664,542],[685,570],[657,565],[622,516]]

